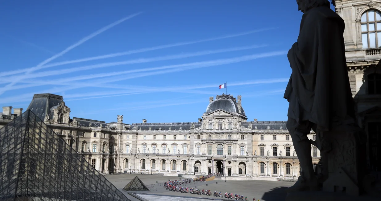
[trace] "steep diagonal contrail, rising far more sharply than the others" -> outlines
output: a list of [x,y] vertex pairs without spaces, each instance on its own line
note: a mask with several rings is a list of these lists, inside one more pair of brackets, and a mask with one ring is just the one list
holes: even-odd
[[[45,65],[46,63],[49,63],[50,61],[54,60],[54,59],[57,59],[58,57],[61,57],[62,55],[66,54],[67,52],[69,52],[70,50],[74,49],[75,47],[77,46],[80,46],[82,43],[85,43],[86,41],[90,40],[91,38],[99,35],[100,33],[114,27],[115,25],[118,25],[132,17],[135,17],[139,14],[141,14],[142,12],[140,13],[135,13],[135,14],[132,14],[130,16],[127,16],[127,17],[124,17],[112,24],[109,24],[107,25],[106,27],[103,27],[101,29],[99,29],[98,31],[94,32],[94,33],[91,33],[90,35],[86,36],[85,38],[82,38],[81,40],[79,40],[77,43],[74,43],[72,44],[71,46],[67,47],[66,49],[64,49],[63,51],[59,52],[58,54],[56,55],[53,55],[52,57],[50,57],[49,59],[46,59],[44,60],[43,62],[39,63],[37,66],[35,66],[34,68],[29,68],[28,70],[25,71],[25,75],[31,73],[32,71],[36,71],[36,70],[39,70],[41,68],[43,68],[42,66]],[[24,76],[25,76],[24,75]],[[0,90],[0,95],[2,95],[8,87],[11,87],[13,85],[15,85],[19,80],[23,79],[22,77],[19,77],[18,79],[12,81],[10,84],[6,85],[5,87],[3,87],[3,90]]]

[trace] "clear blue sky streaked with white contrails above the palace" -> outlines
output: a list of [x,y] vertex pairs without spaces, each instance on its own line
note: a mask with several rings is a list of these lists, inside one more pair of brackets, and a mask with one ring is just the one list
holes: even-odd
[[2,1],[0,106],[53,93],[70,117],[195,122],[227,82],[248,120],[287,120],[301,16],[284,0]]

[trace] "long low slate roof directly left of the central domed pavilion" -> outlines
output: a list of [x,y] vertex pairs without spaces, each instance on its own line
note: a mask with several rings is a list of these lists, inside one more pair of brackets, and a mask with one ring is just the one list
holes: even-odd
[[200,127],[202,123],[199,122],[186,122],[186,123],[133,123],[131,127],[128,130],[133,130],[133,127],[138,127],[137,130],[149,130],[149,127],[151,127],[151,130],[159,130],[159,128],[162,128],[162,130],[169,130],[169,127],[171,127],[171,130],[190,130],[192,123],[194,123],[195,127]]

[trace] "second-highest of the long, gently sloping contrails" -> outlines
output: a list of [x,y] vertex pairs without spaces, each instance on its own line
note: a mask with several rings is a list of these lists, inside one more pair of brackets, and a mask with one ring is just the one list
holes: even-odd
[[[73,73],[76,71],[91,70],[94,68],[104,68],[104,67],[109,67],[109,66],[128,65],[128,64],[136,64],[136,63],[147,63],[147,62],[156,62],[156,61],[173,60],[173,59],[183,59],[183,58],[188,58],[188,57],[195,57],[195,56],[208,55],[208,54],[217,54],[217,53],[222,53],[222,52],[241,51],[241,50],[254,49],[254,48],[260,48],[260,47],[266,47],[266,46],[267,45],[251,45],[251,46],[243,46],[243,47],[232,47],[232,48],[227,48],[227,49],[207,50],[207,51],[200,51],[200,52],[193,52],[193,53],[186,53],[186,54],[167,55],[167,56],[162,56],[162,57],[152,57],[152,58],[147,58],[147,59],[144,59],[144,58],[133,59],[133,60],[126,60],[126,61],[122,61],[122,62],[99,63],[99,64],[95,64],[95,65],[79,66],[76,68],[68,68],[68,69],[54,70],[54,71],[44,71],[44,72],[40,72],[40,73],[29,74],[27,76],[23,76],[21,79],[23,80],[23,79],[27,79],[27,78],[41,78],[41,77],[46,77],[46,76],[60,75],[60,74],[65,74],[65,73]],[[132,73],[132,72],[126,71],[126,73]],[[0,81],[0,84],[11,82],[12,80],[17,79],[17,77],[19,77],[19,76],[12,76],[10,78],[4,78],[4,79],[2,79],[2,81]],[[70,80],[70,81],[73,81],[73,80]],[[8,90],[11,90],[11,89],[8,89]]]

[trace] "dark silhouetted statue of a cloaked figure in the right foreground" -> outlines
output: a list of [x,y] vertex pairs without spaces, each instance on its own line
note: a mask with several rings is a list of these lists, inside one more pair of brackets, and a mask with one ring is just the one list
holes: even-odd
[[[288,192],[319,190],[319,181],[312,167],[312,142],[307,138],[311,129],[320,139],[323,132],[329,133],[338,125],[355,122],[344,51],[344,21],[330,9],[327,0],[296,2],[298,10],[304,14],[298,41],[287,54],[292,73],[283,97],[290,103],[287,129],[303,174],[295,185],[288,188]],[[327,135],[324,136],[326,138]],[[319,140],[313,143],[323,152]],[[324,153],[322,161],[325,160],[323,157]],[[325,165],[327,169],[328,164]]]

